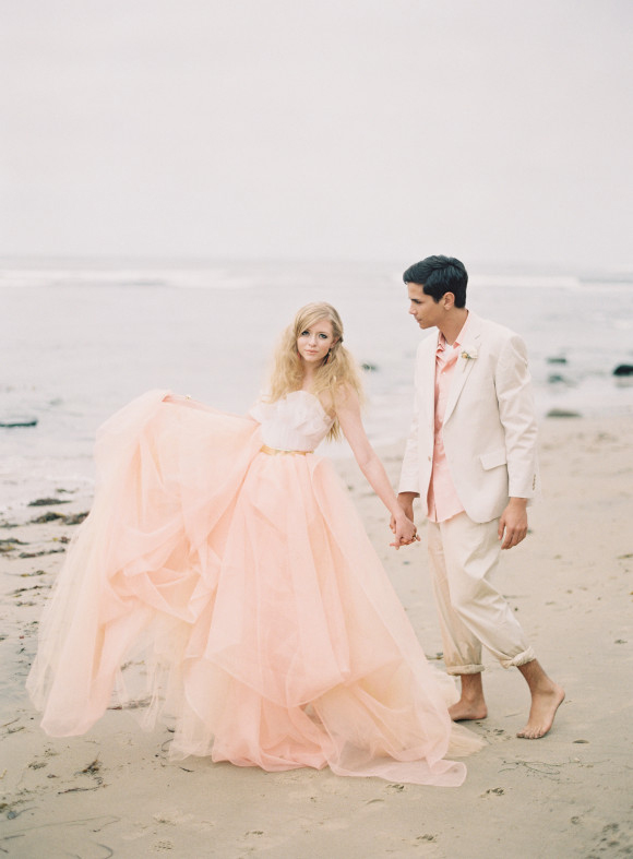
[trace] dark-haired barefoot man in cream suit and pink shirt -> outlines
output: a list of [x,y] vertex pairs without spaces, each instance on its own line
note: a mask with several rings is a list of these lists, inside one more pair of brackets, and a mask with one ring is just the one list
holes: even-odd
[[536,419],[523,341],[466,309],[459,260],[428,256],[403,275],[409,313],[438,336],[418,348],[415,407],[398,501],[413,520],[420,497],[444,663],[462,681],[454,720],[488,715],[481,645],[516,666],[532,694],[525,739],[544,737],[564,699],[544,671],[513,611],[495,589],[500,550],[527,534],[538,493]]

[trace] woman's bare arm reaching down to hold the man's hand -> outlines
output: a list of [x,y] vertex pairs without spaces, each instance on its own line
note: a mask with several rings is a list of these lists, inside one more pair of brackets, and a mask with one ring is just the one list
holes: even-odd
[[395,540],[392,542],[392,546],[395,546],[397,549],[399,546],[405,546],[408,542],[419,539],[416,535],[416,526],[405,515],[386,472],[384,470],[384,466],[369,443],[365,427],[362,426],[360,403],[358,402],[356,391],[347,385],[338,389],[334,401],[334,408],[343,434],[351,448],[358,467],[367,478],[373,491],[392,514],[392,521],[395,523]]

